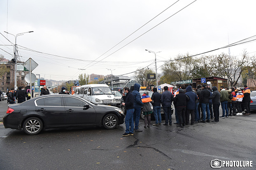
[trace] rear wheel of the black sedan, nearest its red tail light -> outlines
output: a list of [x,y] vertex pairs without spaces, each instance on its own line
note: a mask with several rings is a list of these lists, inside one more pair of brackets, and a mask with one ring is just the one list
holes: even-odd
[[43,122],[37,117],[29,117],[23,123],[23,131],[28,135],[36,135],[43,129]]

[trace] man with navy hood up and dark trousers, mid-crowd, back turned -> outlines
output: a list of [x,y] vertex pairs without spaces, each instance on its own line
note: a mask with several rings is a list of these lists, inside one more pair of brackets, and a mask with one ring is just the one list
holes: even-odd
[[186,103],[185,124],[189,124],[189,115],[191,115],[191,125],[193,125],[195,121],[195,100],[198,99],[198,96],[194,92],[192,92],[192,87],[190,85],[186,88],[185,94],[189,96],[189,101],[187,101]]

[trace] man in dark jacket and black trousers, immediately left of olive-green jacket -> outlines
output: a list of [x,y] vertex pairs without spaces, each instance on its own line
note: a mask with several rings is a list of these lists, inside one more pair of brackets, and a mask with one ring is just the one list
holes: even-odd
[[212,91],[212,96],[209,97],[209,99],[212,99],[212,108],[214,114],[214,121],[212,122],[219,122],[219,106],[221,105],[221,94],[219,93],[218,88],[216,86],[212,87]]

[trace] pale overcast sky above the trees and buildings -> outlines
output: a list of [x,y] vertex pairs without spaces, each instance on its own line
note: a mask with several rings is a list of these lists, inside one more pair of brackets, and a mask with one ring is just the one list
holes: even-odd
[[[195,55],[226,46],[228,39],[232,44],[256,35],[255,0],[179,0],[170,7],[176,1],[0,0],[0,33],[15,43],[14,36],[4,31],[14,35],[34,31],[16,39],[20,60],[31,57],[39,64],[33,73],[54,80],[75,80],[84,73],[111,74],[107,69],[114,75],[132,76],[127,73],[138,68],[155,69],[155,55],[145,49],[161,51],[157,53],[160,67],[179,54]],[[5,37],[0,35],[0,54],[11,60],[13,47]],[[233,46],[230,55],[240,57],[246,49],[252,56],[255,47],[255,41]],[[228,48],[205,55],[221,53],[228,54]]]

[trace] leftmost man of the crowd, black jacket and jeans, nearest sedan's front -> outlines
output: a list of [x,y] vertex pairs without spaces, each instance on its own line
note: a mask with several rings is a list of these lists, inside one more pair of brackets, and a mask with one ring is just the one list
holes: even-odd
[[126,118],[125,118],[126,132],[123,133],[123,136],[129,136],[129,135],[133,135],[133,129],[134,129],[134,124],[133,124],[134,97],[128,87],[124,87],[123,92],[126,94],[126,101],[125,103],[122,103],[122,105],[126,107]]

